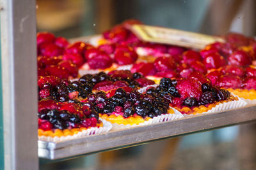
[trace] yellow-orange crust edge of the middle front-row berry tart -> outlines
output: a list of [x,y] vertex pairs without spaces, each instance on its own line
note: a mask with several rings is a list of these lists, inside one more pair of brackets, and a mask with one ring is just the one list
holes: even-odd
[[[174,111],[172,109],[168,110],[169,114],[173,114]],[[132,117],[123,117],[122,115],[116,116],[115,114],[107,115],[107,114],[99,114],[100,118],[103,118],[107,120],[108,122],[111,122],[112,124],[124,124],[124,125],[138,125],[141,124],[147,120],[150,120],[152,118],[150,117],[141,117],[139,115],[132,115]]]

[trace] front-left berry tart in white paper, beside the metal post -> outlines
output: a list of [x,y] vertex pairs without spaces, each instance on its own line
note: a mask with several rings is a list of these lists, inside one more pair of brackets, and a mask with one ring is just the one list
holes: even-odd
[[[74,102],[74,101],[73,101]],[[38,102],[38,139],[64,141],[107,132],[112,125],[99,114],[84,111],[81,103],[60,103],[53,99]]]

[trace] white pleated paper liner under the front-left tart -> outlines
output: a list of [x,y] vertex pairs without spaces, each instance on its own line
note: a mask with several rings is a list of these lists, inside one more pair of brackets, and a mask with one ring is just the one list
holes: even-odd
[[77,138],[84,138],[86,136],[90,136],[93,134],[100,134],[103,132],[108,132],[110,129],[112,129],[112,124],[102,118],[99,118],[100,121],[103,123],[103,127],[91,127],[90,129],[86,129],[84,131],[78,132],[77,134],[74,134],[72,136],[55,136],[54,138],[49,137],[49,136],[38,136],[38,140],[41,141],[51,141],[51,142],[60,142],[60,141],[67,141],[67,140],[72,140],[72,139],[77,139]]

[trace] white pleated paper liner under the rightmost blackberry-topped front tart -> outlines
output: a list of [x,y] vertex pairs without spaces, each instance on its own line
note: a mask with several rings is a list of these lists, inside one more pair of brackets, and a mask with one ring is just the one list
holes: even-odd
[[218,112],[218,111],[223,111],[223,110],[230,110],[230,109],[234,109],[234,108],[240,108],[243,107],[245,105],[247,105],[248,103],[246,101],[244,101],[243,99],[241,99],[240,97],[234,95],[231,93],[232,96],[235,96],[238,98],[238,101],[228,101],[226,103],[221,103],[216,105],[214,108],[212,108],[209,111],[205,111],[203,113],[196,113],[196,114],[183,114],[184,117],[191,117],[193,115],[202,115],[205,113],[214,113],[214,112]]

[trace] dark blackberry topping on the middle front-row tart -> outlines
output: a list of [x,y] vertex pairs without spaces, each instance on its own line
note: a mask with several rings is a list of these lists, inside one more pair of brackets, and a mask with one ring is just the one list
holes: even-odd
[[104,92],[88,96],[88,104],[98,113],[110,114],[124,113],[124,117],[130,117],[137,113],[141,117],[155,117],[167,113],[168,102],[162,97],[140,94],[137,90],[125,92],[124,89],[117,89],[115,95],[106,97]]

